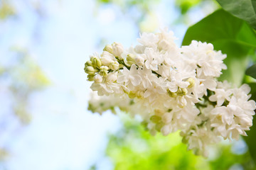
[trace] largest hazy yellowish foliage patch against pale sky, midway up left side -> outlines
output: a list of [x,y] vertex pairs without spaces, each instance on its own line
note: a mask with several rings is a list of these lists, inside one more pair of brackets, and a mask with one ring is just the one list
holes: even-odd
[[28,51],[20,48],[13,48],[11,51],[14,55],[13,62],[1,66],[0,80],[9,81],[7,88],[14,103],[14,114],[21,123],[27,124],[31,120],[27,109],[30,95],[46,87],[50,81]]

